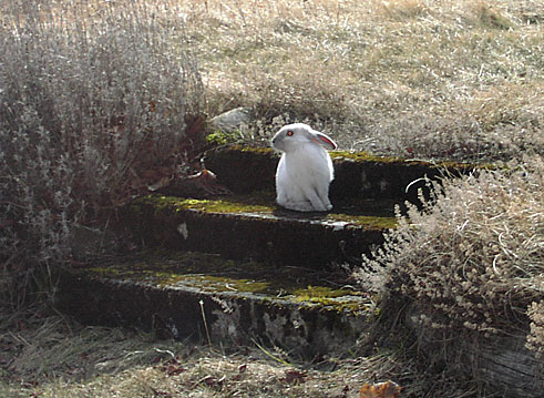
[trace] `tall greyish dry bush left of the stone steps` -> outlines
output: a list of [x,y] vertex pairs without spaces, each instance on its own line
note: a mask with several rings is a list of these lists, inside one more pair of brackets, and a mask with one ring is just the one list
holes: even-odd
[[172,162],[184,118],[202,96],[175,10],[137,0],[45,3],[8,2],[1,14],[0,259],[8,285],[28,276],[30,264],[69,258],[75,226],[130,198],[142,169]]

